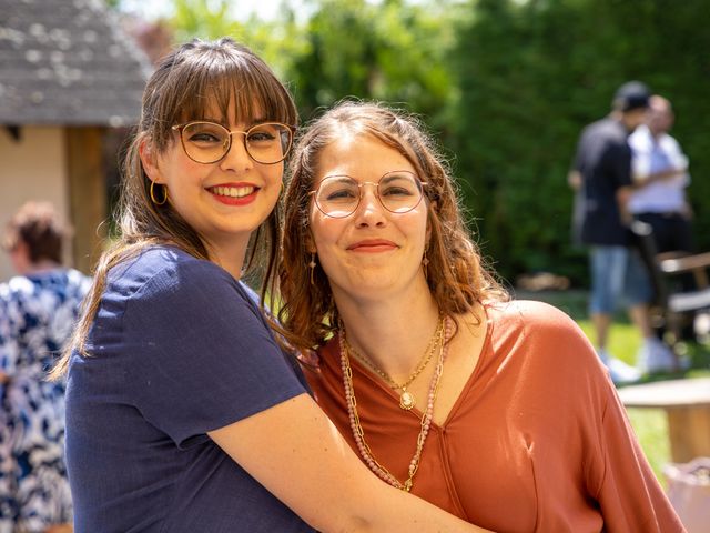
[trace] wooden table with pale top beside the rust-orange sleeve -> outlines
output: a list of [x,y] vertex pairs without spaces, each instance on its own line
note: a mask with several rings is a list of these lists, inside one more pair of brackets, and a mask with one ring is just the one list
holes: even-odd
[[672,462],[710,456],[710,378],[657,381],[618,392],[627,408],[666,411]]

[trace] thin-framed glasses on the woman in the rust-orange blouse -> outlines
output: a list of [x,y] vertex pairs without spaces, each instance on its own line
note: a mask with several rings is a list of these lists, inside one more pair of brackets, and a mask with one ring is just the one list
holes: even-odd
[[355,212],[363,199],[365,185],[375,188],[377,200],[390,213],[407,213],[422,201],[426,182],[408,170],[387,172],[376,183],[359,182],[349,175],[328,175],[310,194],[323,214],[343,219]]

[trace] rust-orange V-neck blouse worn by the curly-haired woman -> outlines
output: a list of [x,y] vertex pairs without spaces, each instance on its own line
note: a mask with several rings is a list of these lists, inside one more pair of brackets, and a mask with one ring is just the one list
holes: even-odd
[[[539,302],[486,312],[478,364],[445,424],[432,424],[412,492],[497,532],[684,531],[575,322]],[[320,371],[306,375],[356,450],[337,339],[320,355]],[[365,439],[405,480],[422,413],[399,409],[397,393],[351,365]]]

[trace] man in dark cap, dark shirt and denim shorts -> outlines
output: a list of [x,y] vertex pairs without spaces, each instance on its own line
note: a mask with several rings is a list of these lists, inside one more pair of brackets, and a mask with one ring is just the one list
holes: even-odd
[[[613,313],[622,300],[643,336],[638,361],[649,353],[673,358],[653,334],[649,303],[653,293],[638,251],[632,247],[627,204],[632,192],[629,134],[639,127],[649,105],[650,91],[639,81],[625,83],[616,92],[611,113],[581,133],[569,182],[580,190],[579,240],[589,247],[591,296],[589,312],[596,333],[597,353],[616,383],[638,380],[641,371],[607,351]],[[674,358],[673,358],[674,360]]]

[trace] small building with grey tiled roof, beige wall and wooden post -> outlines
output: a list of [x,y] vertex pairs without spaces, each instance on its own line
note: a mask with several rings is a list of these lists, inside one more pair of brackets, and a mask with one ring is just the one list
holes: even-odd
[[[89,272],[108,217],[106,134],[134,124],[150,63],[99,0],[0,0],[0,227],[28,200],[72,224]],[[12,274],[0,253],[0,280]]]

